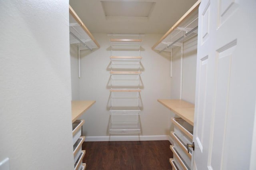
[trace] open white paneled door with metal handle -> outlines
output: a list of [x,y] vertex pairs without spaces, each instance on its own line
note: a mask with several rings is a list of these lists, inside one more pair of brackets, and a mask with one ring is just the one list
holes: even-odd
[[191,169],[249,170],[255,41],[256,0],[202,0]]

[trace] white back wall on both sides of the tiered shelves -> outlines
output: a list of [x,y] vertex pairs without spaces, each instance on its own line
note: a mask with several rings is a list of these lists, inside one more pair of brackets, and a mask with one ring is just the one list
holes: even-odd
[[[170,99],[170,54],[152,51],[151,47],[162,35],[145,35],[142,37],[142,74],[143,89],[141,94],[143,110],[140,121],[143,136],[170,134],[170,111],[157,102],[157,99]],[[85,119],[83,133],[86,140],[108,140],[109,111],[108,102],[110,92],[108,82],[110,79],[110,43],[106,34],[94,34],[100,43],[100,49],[93,53],[88,50],[81,51],[81,78],[80,99],[96,100],[96,103],[81,117]],[[125,55],[125,53],[123,53]],[[159,137],[160,135],[160,137]],[[102,137],[103,136],[103,137]],[[152,138],[152,139],[153,139]],[[147,138],[148,139],[148,138]],[[110,139],[111,140],[111,139]],[[122,140],[122,139],[119,139]],[[128,138],[124,139],[128,140]]]

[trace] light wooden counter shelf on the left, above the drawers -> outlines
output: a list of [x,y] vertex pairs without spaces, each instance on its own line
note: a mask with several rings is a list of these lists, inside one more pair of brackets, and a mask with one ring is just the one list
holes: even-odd
[[96,101],[71,101],[72,123],[87,111]]

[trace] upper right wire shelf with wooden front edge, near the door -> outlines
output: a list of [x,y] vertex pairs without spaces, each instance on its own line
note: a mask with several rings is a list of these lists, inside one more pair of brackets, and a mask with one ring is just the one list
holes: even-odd
[[[198,7],[201,0],[198,0],[166,34],[152,47],[161,51],[172,50],[174,46],[180,46],[182,42],[197,35]],[[188,34],[189,33],[189,34]]]

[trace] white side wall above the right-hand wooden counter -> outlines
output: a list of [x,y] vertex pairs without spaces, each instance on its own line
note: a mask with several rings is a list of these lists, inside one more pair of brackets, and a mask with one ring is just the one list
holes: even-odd
[[171,99],[195,103],[197,36],[190,38],[172,52]]

